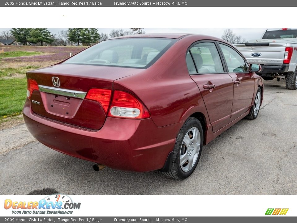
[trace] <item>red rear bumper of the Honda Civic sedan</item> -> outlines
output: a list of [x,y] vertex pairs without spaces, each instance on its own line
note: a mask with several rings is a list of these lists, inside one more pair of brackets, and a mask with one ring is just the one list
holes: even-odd
[[87,130],[32,112],[26,100],[23,115],[29,132],[42,144],[110,168],[147,172],[163,168],[182,123],[157,127],[152,119],[107,117],[103,127]]

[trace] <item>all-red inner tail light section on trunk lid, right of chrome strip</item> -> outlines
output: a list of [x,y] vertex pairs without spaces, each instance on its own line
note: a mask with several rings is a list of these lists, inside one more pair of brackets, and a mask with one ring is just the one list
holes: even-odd
[[99,102],[102,105],[104,112],[106,114],[110,103],[110,96],[111,90],[109,89],[91,88],[88,91],[86,99]]

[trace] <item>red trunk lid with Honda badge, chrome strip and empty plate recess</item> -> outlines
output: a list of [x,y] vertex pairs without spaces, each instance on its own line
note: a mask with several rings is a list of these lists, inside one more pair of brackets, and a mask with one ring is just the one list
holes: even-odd
[[87,98],[89,90],[103,89],[111,96],[114,80],[140,71],[142,69],[58,64],[27,72],[27,77],[35,80],[39,88],[30,97],[32,111],[68,124],[100,129],[107,108]]

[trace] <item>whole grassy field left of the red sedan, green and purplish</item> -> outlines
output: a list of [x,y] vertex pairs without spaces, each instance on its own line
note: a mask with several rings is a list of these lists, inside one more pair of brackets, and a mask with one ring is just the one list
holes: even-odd
[[0,124],[22,113],[26,72],[67,59],[83,46],[0,46]]

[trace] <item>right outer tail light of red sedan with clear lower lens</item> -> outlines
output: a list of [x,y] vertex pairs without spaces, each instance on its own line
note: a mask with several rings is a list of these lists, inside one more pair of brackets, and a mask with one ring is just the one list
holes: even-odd
[[115,90],[108,116],[144,119],[149,118],[150,114],[148,109],[132,94]]

